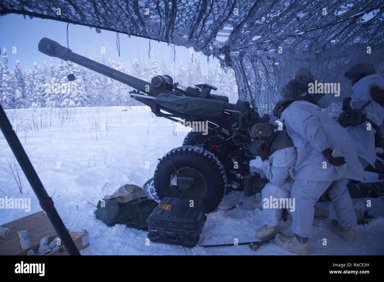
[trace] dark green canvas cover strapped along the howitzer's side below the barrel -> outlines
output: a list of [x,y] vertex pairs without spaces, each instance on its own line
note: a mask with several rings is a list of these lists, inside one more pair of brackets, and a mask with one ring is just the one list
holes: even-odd
[[162,107],[197,117],[221,118],[225,109],[225,102],[211,99],[175,96],[173,94],[159,94],[156,102]]

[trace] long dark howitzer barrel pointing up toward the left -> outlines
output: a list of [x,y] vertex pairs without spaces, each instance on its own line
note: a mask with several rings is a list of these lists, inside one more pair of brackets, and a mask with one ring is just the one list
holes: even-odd
[[61,46],[59,43],[49,38],[42,38],[39,42],[38,48],[39,51],[43,54],[79,64],[80,66],[91,69],[97,73],[103,74],[109,78],[127,84],[128,86],[131,86],[132,88],[144,92],[148,95],[152,95],[151,83],[139,78],[135,78],[134,76],[130,76],[129,74],[122,73],[121,71],[110,68],[104,64],[100,64],[79,54],[73,53],[71,49],[65,48],[64,46]]

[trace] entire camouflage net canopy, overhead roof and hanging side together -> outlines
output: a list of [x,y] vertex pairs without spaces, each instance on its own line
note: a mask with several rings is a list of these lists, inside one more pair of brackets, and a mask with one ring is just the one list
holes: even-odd
[[233,68],[240,98],[260,112],[301,66],[320,82],[340,82],[341,97],[351,64],[371,62],[384,74],[384,0],[4,0],[0,15],[7,13],[193,47]]

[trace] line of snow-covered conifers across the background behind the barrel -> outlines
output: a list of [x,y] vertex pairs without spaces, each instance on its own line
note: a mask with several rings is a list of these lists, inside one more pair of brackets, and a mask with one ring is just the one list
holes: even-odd
[[[209,83],[218,87],[217,94],[226,95],[231,101],[237,99],[233,71],[224,73],[218,67],[209,66],[208,73],[205,74],[198,56],[194,57],[193,62],[192,56],[190,57],[187,70],[180,61],[176,73],[172,72],[167,59],[159,59],[156,49],[152,51],[151,67],[147,61],[141,65],[137,58],[132,60],[131,69],[126,69],[120,61],[111,58],[102,58],[101,61],[107,61],[108,66],[148,82],[154,75],[169,74],[175,82],[184,86]],[[3,68],[3,65],[7,67]],[[8,70],[8,62],[0,62],[0,67],[0,77],[3,77],[4,72],[10,74],[14,108],[141,105],[129,96],[131,87],[74,63],[60,61],[55,68],[51,59],[49,63],[44,62],[43,69],[35,63],[33,71],[26,69],[24,73],[19,61],[13,73]],[[70,73],[75,76],[73,82],[68,81],[67,75]],[[2,82],[1,78],[0,87]]]

